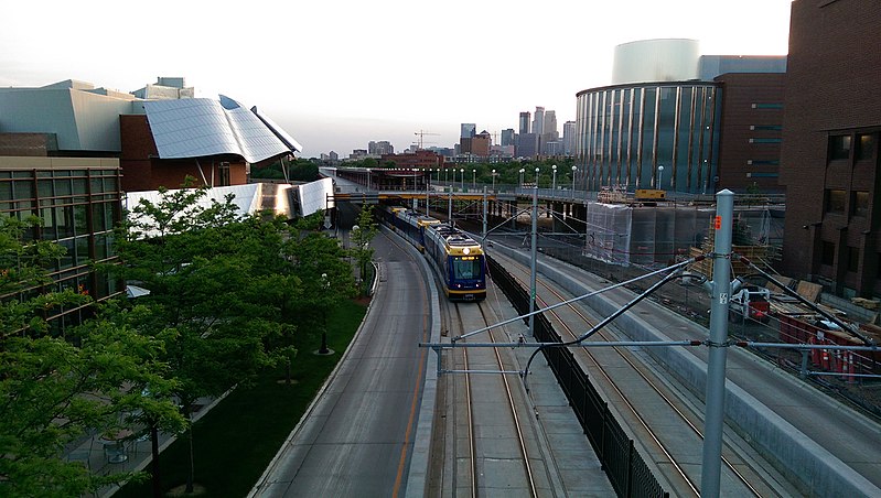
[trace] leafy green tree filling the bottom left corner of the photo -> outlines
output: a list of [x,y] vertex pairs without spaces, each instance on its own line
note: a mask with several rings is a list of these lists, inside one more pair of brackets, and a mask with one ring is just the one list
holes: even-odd
[[52,291],[46,268],[64,249],[23,241],[22,224],[0,218],[0,495],[78,496],[131,474],[93,474],[65,451],[88,434],[130,429],[150,413],[166,429],[183,419],[169,401],[162,344],[107,321],[90,321],[54,337],[44,318],[61,306],[88,304],[74,291]]

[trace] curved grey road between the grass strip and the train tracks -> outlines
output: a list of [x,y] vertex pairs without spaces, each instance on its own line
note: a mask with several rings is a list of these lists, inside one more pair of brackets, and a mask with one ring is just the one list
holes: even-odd
[[[251,496],[404,496],[426,376],[429,291],[412,252],[374,239],[379,284],[325,391]],[[437,299],[437,297],[434,297]]]

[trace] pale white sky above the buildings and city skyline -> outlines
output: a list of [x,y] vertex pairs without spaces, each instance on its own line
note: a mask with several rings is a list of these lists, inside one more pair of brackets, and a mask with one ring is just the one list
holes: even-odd
[[785,55],[791,0],[3,1],[0,86],[79,79],[133,91],[184,77],[196,97],[257,106],[341,158],[388,140],[453,147],[460,123],[576,119],[611,83],[614,47],[691,39],[712,55]]

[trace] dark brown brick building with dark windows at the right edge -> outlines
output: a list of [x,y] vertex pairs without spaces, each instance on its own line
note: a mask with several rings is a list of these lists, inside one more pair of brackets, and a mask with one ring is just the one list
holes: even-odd
[[877,0],[792,4],[783,270],[846,297],[881,295],[879,26]]

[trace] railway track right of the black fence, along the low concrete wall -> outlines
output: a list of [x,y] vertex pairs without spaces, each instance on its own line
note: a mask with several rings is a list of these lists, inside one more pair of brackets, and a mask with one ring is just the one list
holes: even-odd
[[[511,259],[504,260],[505,267],[524,288],[528,288],[528,270]],[[547,307],[571,299],[539,279],[537,301],[539,307]],[[563,342],[576,339],[583,331],[592,327],[597,320],[576,304],[569,304],[546,312]],[[583,331],[581,331],[583,328]],[[602,329],[590,340],[619,340],[610,332]],[[613,351],[613,355],[606,354]],[[703,435],[702,412],[695,409],[697,402],[689,396],[683,398],[681,391],[673,388],[670,382],[647,367],[627,348],[603,347],[602,349],[576,349],[576,356],[582,368],[590,371],[594,382],[599,383],[610,403],[617,407],[627,425],[634,432],[634,439],[642,442],[649,458],[680,496],[699,496],[700,455]],[[646,408],[651,407],[651,412]],[[675,440],[675,444],[670,444]],[[726,490],[732,496],[780,496],[780,478],[770,477],[763,468],[750,464],[756,455],[744,455],[745,443],[731,444],[727,437],[723,448]],[[689,450],[690,448],[690,450]],[[746,451],[746,453],[751,453]],[[783,491],[785,494],[786,491]]]

